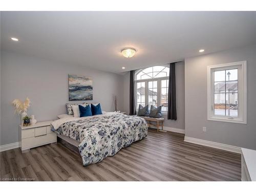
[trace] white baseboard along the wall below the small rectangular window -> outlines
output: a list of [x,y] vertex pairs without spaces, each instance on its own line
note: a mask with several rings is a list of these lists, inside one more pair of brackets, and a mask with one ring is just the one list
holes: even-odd
[[217,142],[213,142],[213,141],[207,141],[207,140],[202,140],[202,139],[197,139],[197,138],[187,137],[187,136],[185,136],[184,141],[189,142],[189,143],[195,143],[195,144],[199,144],[199,145],[219,148],[220,150],[225,150],[225,151],[229,151],[229,152],[234,152],[234,153],[239,153],[239,154],[242,153],[241,147],[238,147],[238,146],[232,146],[232,145],[227,145],[227,144],[223,144],[223,143],[217,143]]

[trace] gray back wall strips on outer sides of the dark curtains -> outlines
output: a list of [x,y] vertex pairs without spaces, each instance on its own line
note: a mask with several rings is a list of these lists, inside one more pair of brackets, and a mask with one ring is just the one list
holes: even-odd
[[[126,73],[123,78],[124,89],[124,111],[129,114],[129,92],[130,73]],[[184,82],[184,62],[176,64],[176,97],[177,97],[177,120],[168,120],[164,117],[164,126],[185,129],[185,82]]]

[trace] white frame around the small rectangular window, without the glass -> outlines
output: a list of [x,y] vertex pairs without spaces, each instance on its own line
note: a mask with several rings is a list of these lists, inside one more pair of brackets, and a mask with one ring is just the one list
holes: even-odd
[[[214,72],[238,68],[238,117],[214,114]],[[225,101],[226,103],[226,101]],[[207,120],[247,124],[247,77],[246,61],[207,66]]]

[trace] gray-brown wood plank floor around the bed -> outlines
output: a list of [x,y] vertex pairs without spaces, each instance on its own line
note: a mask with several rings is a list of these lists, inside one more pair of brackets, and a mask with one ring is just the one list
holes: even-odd
[[[1,152],[1,179],[36,181],[240,181],[241,155],[149,130],[145,139],[103,161],[82,166],[60,143]],[[29,178],[29,179],[28,179]]]

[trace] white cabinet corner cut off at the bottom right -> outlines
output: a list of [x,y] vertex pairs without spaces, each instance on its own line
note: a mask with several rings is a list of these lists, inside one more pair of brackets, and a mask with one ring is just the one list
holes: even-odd
[[256,181],[256,151],[242,148],[242,181]]

